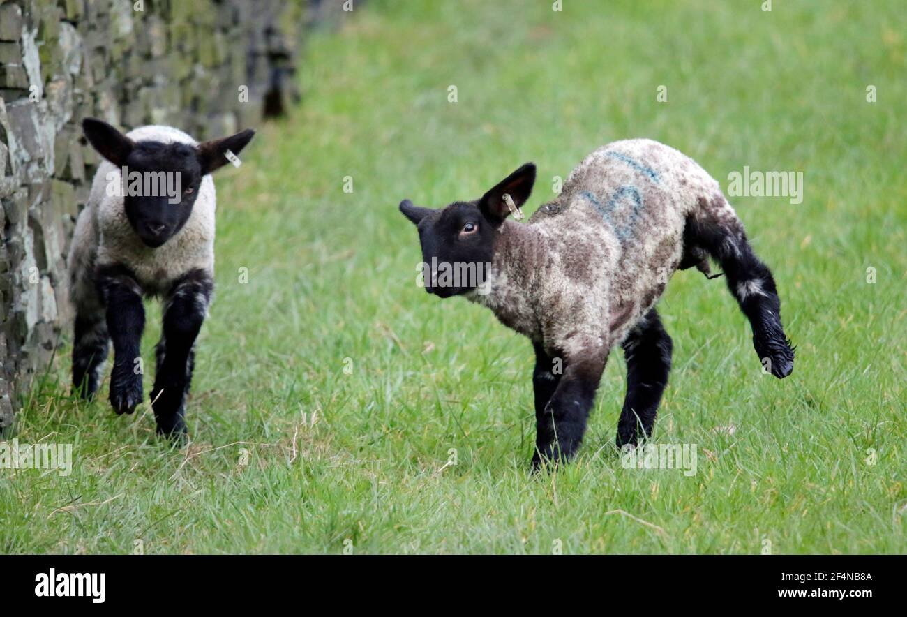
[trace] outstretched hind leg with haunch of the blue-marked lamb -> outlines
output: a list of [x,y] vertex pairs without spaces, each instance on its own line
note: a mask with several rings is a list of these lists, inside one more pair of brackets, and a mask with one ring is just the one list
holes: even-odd
[[[700,198],[687,218],[684,259],[680,268],[696,266],[707,276],[708,257],[716,260],[727,279],[727,289],[753,327],[753,347],[767,371],[787,377],[794,370],[794,348],[781,325],[781,299],[775,279],[746,241],[743,223],[721,193]],[[709,277],[713,278],[713,277]]]

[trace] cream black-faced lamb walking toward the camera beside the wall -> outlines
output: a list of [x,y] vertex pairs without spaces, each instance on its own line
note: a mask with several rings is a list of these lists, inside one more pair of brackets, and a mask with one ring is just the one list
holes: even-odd
[[[151,406],[157,432],[186,433],[195,339],[214,289],[214,181],[210,173],[255,134],[196,142],[169,126],[123,135],[87,118],[85,137],[104,161],[73,234],[68,267],[75,308],[73,389],[91,398],[113,343],[110,402],[132,414],[142,400],[143,297],[163,299]],[[230,154],[232,153],[232,154]]]

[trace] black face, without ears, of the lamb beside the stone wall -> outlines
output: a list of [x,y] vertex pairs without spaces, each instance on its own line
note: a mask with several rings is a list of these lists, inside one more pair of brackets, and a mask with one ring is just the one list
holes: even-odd
[[198,153],[185,143],[138,142],[126,169],[126,217],[141,241],[156,249],[189,220],[202,177]]

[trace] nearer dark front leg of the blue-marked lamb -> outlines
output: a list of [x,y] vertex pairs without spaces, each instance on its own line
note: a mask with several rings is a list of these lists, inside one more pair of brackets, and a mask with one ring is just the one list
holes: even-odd
[[567,462],[579,450],[607,358],[599,348],[566,359],[551,399],[536,418],[533,468],[543,461]]

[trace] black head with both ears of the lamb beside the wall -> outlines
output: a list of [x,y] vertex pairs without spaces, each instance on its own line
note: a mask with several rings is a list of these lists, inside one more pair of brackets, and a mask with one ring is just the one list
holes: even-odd
[[201,179],[239,154],[255,134],[251,129],[230,137],[188,143],[133,142],[107,122],[86,118],[85,137],[120,168],[123,208],[136,235],[156,249],[180,231],[192,214]]

